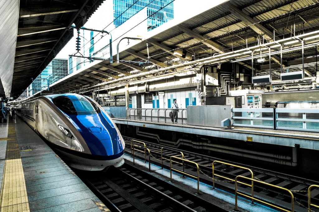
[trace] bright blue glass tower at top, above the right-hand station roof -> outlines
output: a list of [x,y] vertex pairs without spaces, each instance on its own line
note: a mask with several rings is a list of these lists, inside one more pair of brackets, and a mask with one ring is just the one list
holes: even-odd
[[114,25],[123,24],[144,8],[147,8],[148,31],[174,18],[172,0],[113,0]]

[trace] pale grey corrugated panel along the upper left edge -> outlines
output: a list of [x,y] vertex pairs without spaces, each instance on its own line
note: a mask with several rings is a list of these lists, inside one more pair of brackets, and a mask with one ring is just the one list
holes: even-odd
[[10,96],[16,51],[19,0],[0,1],[0,79],[5,95]]

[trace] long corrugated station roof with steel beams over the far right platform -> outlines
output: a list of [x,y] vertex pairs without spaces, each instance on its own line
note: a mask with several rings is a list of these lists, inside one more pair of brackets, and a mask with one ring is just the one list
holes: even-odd
[[[91,67],[51,85],[50,92],[85,93],[90,89],[92,91],[92,88],[124,85],[183,70],[196,70],[203,65],[234,61],[248,70],[254,65],[256,75],[267,74],[271,67],[272,77],[277,79],[278,71],[280,73],[280,45],[286,50],[282,52],[282,65],[289,67],[290,71],[300,71],[301,40],[304,40],[304,63],[307,64],[305,73],[314,76],[316,55],[319,54],[318,7],[317,0],[227,1],[146,38],[119,54],[120,60],[149,60],[149,65],[94,61]],[[269,48],[270,66],[267,56]],[[256,64],[254,60],[252,64],[249,59],[251,51],[257,58],[260,49],[265,61]]]

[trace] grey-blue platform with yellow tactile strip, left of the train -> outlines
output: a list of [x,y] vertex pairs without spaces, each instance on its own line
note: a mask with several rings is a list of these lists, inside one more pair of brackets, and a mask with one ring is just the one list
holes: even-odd
[[0,124],[0,212],[109,211],[19,117]]

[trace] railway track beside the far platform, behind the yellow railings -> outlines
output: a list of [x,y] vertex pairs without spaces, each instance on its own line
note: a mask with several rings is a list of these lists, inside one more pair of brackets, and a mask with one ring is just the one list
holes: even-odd
[[[131,139],[129,137],[124,137],[126,148],[125,151],[127,154],[132,154],[131,150]],[[154,144],[151,142],[143,141],[146,144],[146,148],[150,150],[150,161],[153,164],[156,164],[158,166],[162,166],[163,161],[163,167],[170,169],[170,163],[169,158],[171,156],[176,156],[181,158],[181,150],[175,149],[172,147],[165,147],[162,145]],[[133,145],[137,146],[143,146],[141,143],[132,142]],[[161,160],[161,153],[160,149],[162,149],[162,157],[163,160]],[[212,162],[213,161],[220,161],[218,158],[213,158],[206,155],[191,153],[187,151],[182,152],[184,155],[184,159],[187,159],[189,161],[196,162],[199,165],[200,168],[200,181],[213,185],[212,180]],[[146,153],[147,154],[147,153]],[[134,152],[135,157],[138,157],[140,159],[145,160],[145,154],[135,151]],[[146,157],[148,161],[148,156]],[[218,174],[219,176],[226,177],[217,177],[215,176],[215,187],[220,188],[222,190],[225,190],[227,192],[234,193],[234,182],[229,179],[235,179],[237,175],[242,175],[246,177],[251,177],[251,173],[244,168],[249,168],[254,175],[254,179],[262,182],[266,182],[275,186],[279,186],[282,188],[286,188],[290,190],[293,194],[293,202],[294,202],[294,210],[295,211],[308,211],[308,187],[310,185],[319,185],[319,182],[307,180],[304,178],[278,173],[278,172],[272,172],[270,170],[265,170],[257,167],[251,167],[247,165],[238,164],[232,161],[225,161],[224,163],[215,162],[214,165],[214,173]],[[225,163],[229,163],[232,165],[226,165]],[[179,165],[181,166],[181,165]],[[244,168],[238,168],[236,166],[244,167]],[[196,175],[196,171],[193,166],[189,166],[187,164],[184,164],[185,172]],[[251,182],[246,181],[248,184]],[[244,193],[249,194],[251,192],[251,188],[245,185],[239,184],[238,187],[239,190],[243,191]],[[267,187],[264,185],[260,185],[258,182],[254,184],[254,197],[260,200],[264,200],[266,202],[271,202],[272,204],[276,206],[280,206],[281,208],[285,208],[289,211],[291,209],[291,196],[288,192],[282,192],[281,190],[278,190],[273,187]],[[319,189],[312,189],[311,191],[311,203],[315,205],[319,205]],[[319,211],[315,207],[311,208],[312,211]]]

